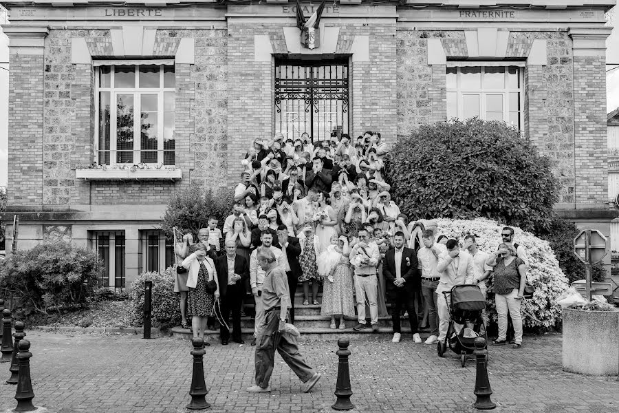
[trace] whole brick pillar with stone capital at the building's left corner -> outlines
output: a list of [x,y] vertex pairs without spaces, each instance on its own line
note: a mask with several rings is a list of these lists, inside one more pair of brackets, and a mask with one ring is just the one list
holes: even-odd
[[8,180],[12,206],[43,203],[43,74],[47,26],[6,25],[9,37]]

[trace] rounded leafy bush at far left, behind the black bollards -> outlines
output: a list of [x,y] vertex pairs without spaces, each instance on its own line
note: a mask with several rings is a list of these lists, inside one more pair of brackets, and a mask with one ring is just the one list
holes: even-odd
[[19,250],[0,263],[0,291],[17,299],[17,307],[47,313],[67,306],[85,306],[94,295],[102,268],[97,255],[84,248],[55,242]]

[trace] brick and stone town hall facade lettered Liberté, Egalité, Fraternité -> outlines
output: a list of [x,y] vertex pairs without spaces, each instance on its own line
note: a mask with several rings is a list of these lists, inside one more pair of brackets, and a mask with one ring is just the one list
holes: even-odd
[[[285,0],[106,3],[3,2],[8,245],[17,213],[21,248],[97,248],[110,286],[169,264],[158,221],[170,193],[229,187],[252,140],[307,130],[307,110],[275,96],[285,67],[331,67],[345,85],[328,100],[338,109],[316,103],[314,137],[369,129],[389,142],[452,116],[517,125],[553,161],[556,210],[609,233],[605,12],[615,1],[340,0],[325,7],[314,50],[301,47]],[[318,4],[302,2],[305,17]],[[116,87],[127,76],[135,83]],[[138,159],[151,167],[131,168]]]

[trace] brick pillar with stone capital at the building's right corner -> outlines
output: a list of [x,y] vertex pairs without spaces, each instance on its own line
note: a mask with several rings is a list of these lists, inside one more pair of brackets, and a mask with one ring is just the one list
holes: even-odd
[[605,54],[611,30],[569,29],[574,50],[576,209],[608,209]]

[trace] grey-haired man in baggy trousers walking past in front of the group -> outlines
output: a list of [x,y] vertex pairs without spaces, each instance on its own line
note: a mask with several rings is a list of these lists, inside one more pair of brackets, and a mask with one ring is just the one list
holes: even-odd
[[296,337],[285,332],[285,324],[290,308],[290,292],[286,273],[277,265],[272,251],[260,247],[257,252],[258,265],[265,271],[262,284],[261,299],[264,306],[264,318],[257,337],[256,354],[256,385],[247,389],[248,392],[270,392],[269,381],[274,368],[275,350],[283,361],[292,369],[305,386],[307,393],[321,378],[321,374],[305,363],[298,352]]

